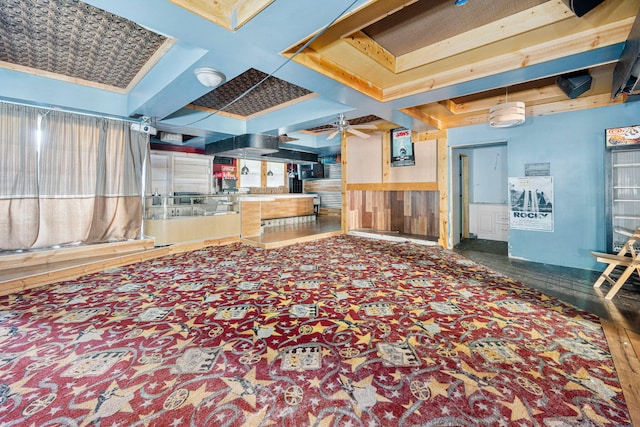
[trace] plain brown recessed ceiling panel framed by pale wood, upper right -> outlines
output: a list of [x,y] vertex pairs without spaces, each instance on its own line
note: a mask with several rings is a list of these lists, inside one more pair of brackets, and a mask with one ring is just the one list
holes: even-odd
[[362,31],[400,56],[546,1],[472,0],[456,6],[453,0],[419,0]]

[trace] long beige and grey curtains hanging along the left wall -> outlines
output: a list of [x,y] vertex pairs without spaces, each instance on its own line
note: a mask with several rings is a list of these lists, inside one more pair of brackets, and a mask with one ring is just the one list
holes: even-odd
[[[0,107],[2,120],[16,129],[2,133],[0,147],[3,151],[5,146],[12,147],[16,154],[11,161],[15,166],[7,168],[3,163],[0,174],[4,182],[13,170],[18,181],[11,190],[3,186],[0,195],[2,207],[11,208],[7,220],[0,222],[0,249],[139,237],[147,135],[131,132],[127,122],[118,120],[10,104]],[[16,119],[22,115],[29,118],[28,125],[26,119]],[[38,117],[39,153],[37,132],[24,130],[38,129]],[[28,136],[18,139],[15,133]],[[35,188],[35,193],[24,188]]]

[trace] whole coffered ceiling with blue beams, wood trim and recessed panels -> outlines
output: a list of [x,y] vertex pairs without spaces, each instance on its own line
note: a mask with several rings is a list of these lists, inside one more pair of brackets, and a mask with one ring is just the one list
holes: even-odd
[[[601,107],[638,0],[578,17],[562,0],[8,0],[0,4],[0,98],[139,120],[203,145],[292,134],[308,150],[328,123],[444,130]],[[194,70],[226,75],[217,88]],[[588,72],[571,99],[556,77]]]

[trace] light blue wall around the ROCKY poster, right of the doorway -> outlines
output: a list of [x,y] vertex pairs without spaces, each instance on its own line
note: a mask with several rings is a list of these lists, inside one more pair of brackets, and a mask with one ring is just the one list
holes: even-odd
[[[509,231],[509,256],[566,267],[601,270],[591,251],[606,250],[606,128],[640,124],[640,102],[529,117],[521,126],[476,125],[449,130],[452,147],[507,141],[509,177],[526,163],[550,163],[554,231]],[[491,165],[487,165],[491,167]]]

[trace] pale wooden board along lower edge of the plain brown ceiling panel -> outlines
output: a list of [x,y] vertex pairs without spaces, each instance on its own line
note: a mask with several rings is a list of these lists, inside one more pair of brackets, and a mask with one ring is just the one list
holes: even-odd
[[396,73],[524,34],[573,16],[560,0],[543,3],[396,58]]

